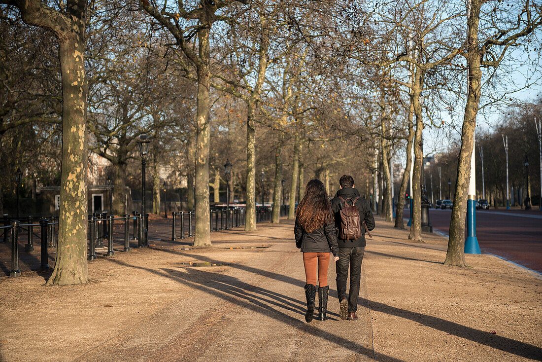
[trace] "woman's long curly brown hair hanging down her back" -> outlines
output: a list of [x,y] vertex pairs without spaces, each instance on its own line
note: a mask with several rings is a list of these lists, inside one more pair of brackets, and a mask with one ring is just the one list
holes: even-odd
[[311,180],[305,188],[305,195],[295,211],[295,222],[306,232],[324,226],[331,218],[331,204],[326,187],[320,180]]

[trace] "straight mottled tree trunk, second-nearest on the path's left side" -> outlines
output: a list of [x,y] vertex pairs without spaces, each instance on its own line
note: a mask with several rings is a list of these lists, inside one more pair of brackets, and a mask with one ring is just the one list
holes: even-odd
[[[209,11],[209,10],[205,10]],[[202,18],[208,26],[198,30],[199,59],[197,67],[197,119],[196,119],[196,227],[193,246],[211,245],[209,225],[209,30],[211,19]]]

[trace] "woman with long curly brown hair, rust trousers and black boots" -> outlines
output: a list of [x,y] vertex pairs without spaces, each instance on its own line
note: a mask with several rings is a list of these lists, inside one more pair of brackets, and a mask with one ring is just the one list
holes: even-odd
[[320,180],[311,180],[307,183],[305,195],[295,211],[294,234],[295,245],[303,253],[303,264],[307,277],[305,320],[310,322],[313,319],[318,275],[318,319],[324,321],[327,319],[327,295],[330,291],[330,285],[327,284],[330,252],[333,253],[333,261],[337,262],[339,260],[337,257],[339,246],[330,199],[327,197],[326,187]]

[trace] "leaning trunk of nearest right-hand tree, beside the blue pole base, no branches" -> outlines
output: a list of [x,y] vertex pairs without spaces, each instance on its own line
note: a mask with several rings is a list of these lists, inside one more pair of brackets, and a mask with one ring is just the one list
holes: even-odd
[[467,191],[470,181],[470,158],[474,148],[474,129],[476,113],[481,96],[480,52],[478,49],[478,22],[480,1],[472,0],[472,9],[467,19],[468,52],[465,56],[468,66],[467,103],[461,129],[461,149],[457,162],[457,179],[455,183],[454,205],[451,209],[450,237],[444,265],[465,265],[465,214],[467,213]]

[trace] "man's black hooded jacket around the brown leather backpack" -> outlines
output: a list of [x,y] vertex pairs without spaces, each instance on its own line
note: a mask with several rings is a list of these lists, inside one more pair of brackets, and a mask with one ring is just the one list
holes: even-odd
[[[331,200],[331,209],[333,210],[333,214],[335,217],[335,226],[337,228],[340,227],[340,209],[345,206],[343,200],[339,199],[339,196],[345,200],[352,199],[352,201],[354,201],[354,199],[356,199],[357,196],[360,195],[359,191],[353,187],[341,188],[337,191],[337,194],[335,194],[335,197]],[[350,205],[350,201],[348,204]],[[369,231],[373,230],[373,228],[375,228],[375,218],[373,217],[369,203],[365,200],[365,198],[360,196],[358,201],[356,201],[356,206],[358,207],[360,222],[365,221],[367,229],[369,229]],[[356,240],[344,240],[340,238],[337,238],[337,240],[339,247],[365,246],[365,227],[363,227],[363,223],[362,237],[357,238]]]

